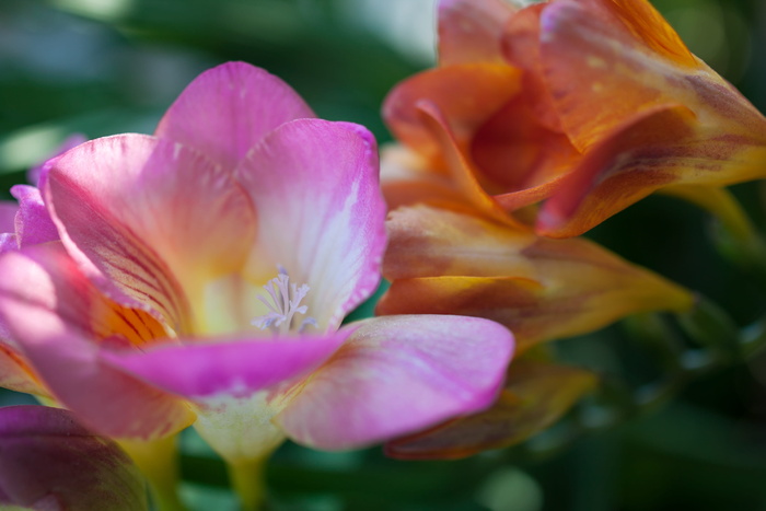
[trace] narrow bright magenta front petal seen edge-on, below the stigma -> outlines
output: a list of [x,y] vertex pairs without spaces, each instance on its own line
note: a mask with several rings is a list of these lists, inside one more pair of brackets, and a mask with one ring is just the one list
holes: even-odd
[[103,351],[101,357],[112,367],[178,396],[244,397],[316,369],[348,335],[343,330],[326,336],[214,342],[189,339],[183,346],[156,346],[143,352]]

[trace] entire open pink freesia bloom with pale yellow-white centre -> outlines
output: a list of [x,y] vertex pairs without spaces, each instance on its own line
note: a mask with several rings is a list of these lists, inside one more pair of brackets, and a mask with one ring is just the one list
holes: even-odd
[[487,407],[501,386],[512,337],[498,324],[340,327],[380,278],[374,139],[313,118],[260,69],[202,73],[154,136],[83,143],[40,189],[61,241],[0,258],[0,315],[100,433],[160,438],[195,421],[244,465],[287,437],[349,449],[416,431]]

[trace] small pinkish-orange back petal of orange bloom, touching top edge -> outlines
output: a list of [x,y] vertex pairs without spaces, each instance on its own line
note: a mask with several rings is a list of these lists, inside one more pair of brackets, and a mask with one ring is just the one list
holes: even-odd
[[502,0],[439,2],[439,63],[501,61],[500,34],[514,8]]

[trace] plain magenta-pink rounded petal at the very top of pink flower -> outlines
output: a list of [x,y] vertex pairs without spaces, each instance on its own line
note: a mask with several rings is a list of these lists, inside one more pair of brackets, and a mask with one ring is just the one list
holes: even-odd
[[314,117],[290,85],[245,62],[197,77],[160,120],[154,135],[197,149],[230,171],[266,133]]

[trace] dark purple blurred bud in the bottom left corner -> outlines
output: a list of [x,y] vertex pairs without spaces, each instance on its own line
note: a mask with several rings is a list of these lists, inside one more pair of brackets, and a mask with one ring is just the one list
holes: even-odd
[[[72,414],[44,406],[0,408],[0,508],[140,511],[143,480],[113,441]],[[4,508],[3,508],[4,509]]]

